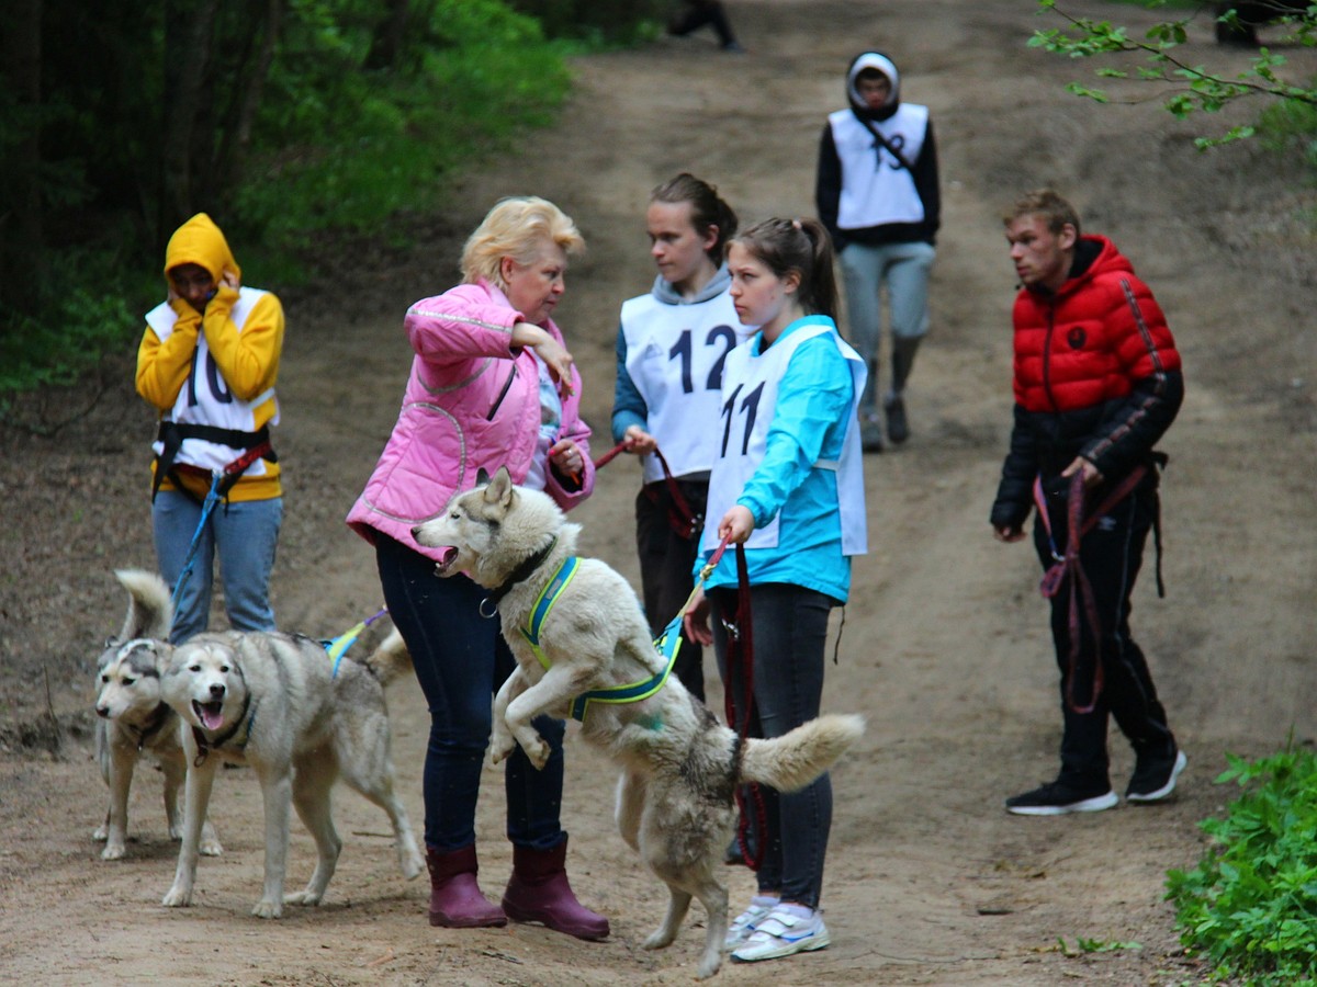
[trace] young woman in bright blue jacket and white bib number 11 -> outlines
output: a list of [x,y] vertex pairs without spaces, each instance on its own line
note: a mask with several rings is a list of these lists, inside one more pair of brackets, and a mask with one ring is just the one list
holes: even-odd
[[[849,596],[851,557],[867,550],[856,418],[865,368],[836,332],[832,250],[822,224],[760,222],[732,240],[728,268],[738,316],[760,330],[732,350],[723,370],[718,459],[697,566],[723,540],[744,545],[756,711],[749,733],[780,737],[819,715],[828,616]],[[686,624],[693,637],[714,645],[739,719],[748,697],[738,686],[749,679],[730,667],[723,622],[735,619],[738,583],[728,551]],[[830,941],[819,898],[831,780],[823,775],[790,795],[765,788],[763,796],[757,894],[727,932],[739,962]]]

